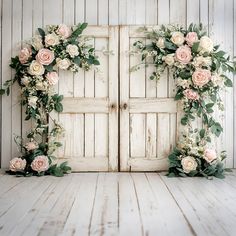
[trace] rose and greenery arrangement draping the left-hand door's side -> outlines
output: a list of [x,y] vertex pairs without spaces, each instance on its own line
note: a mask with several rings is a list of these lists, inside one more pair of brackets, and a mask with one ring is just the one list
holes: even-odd
[[[20,147],[21,156],[10,161],[8,173],[17,175],[63,176],[71,168],[66,162],[53,164],[53,153],[61,146],[58,137],[63,127],[51,118],[52,111],[62,112],[63,96],[55,93],[54,86],[59,81],[57,69],[77,72],[80,68],[89,70],[99,65],[94,48],[82,37],[86,23],[74,27],[49,25],[47,30],[38,29],[21,49],[18,56],[11,59],[10,67],[15,76],[7,80],[0,90],[10,93],[10,87],[17,82],[21,88],[21,104],[26,108],[25,120],[33,120],[33,127],[27,134],[29,141],[20,137],[15,141]],[[49,119],[54,125],[49,129]]]

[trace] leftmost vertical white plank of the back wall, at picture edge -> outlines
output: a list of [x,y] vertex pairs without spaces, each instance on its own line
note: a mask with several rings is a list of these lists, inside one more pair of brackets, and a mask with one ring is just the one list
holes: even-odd
[[[11,1],[2,0],[2,83],[11,78],[11,70],[9,68],[9,58],[11,58]],[[12,157],[11,141],[12,126],[11,120],[11,97],[2,96],[2,135],[1,135],[1,168],[7,168]]]

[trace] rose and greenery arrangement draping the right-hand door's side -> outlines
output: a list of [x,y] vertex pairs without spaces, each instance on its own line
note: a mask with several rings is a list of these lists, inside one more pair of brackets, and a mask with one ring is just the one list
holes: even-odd
[[[136,51],[142,55],[140,65],[147,66],[151,58],[156,70],[150,79],[159,79],[168,68],[176,82],[175,100],[183,108],[181,124],[186,126],[177,147],[169,155],[168,176],[215,176],[224,177],[223,159],[225,152],[217,154],[212,147],[212,136],[219,137],[223,131],[214,118],[215,105],[224,109],[220,91],[232,87],[228,73],[236,70],[226,52],[219,50],[203,30],[202,25],[191,24],[188,29],[178,26],[161,26],[143,29],[150,43],[134,43]],[[203,127],[193,129],[195,117],[202,119]]]

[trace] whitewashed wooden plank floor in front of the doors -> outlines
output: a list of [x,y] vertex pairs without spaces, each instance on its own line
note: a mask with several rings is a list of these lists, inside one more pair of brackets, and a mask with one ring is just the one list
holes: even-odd
[[236,235],[236,171],[0,176],[0,235]]

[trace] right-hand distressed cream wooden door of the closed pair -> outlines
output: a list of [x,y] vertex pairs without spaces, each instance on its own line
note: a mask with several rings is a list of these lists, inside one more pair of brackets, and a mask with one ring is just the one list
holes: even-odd
[[120,167],[121,171],[156,171],[168,168],[167,157],[175,145],[177,104],[174,82],[168,72],[150,80],[153,67],[130,68],[141,62],[132,45],[143,40],[137,26],[120,28]]

